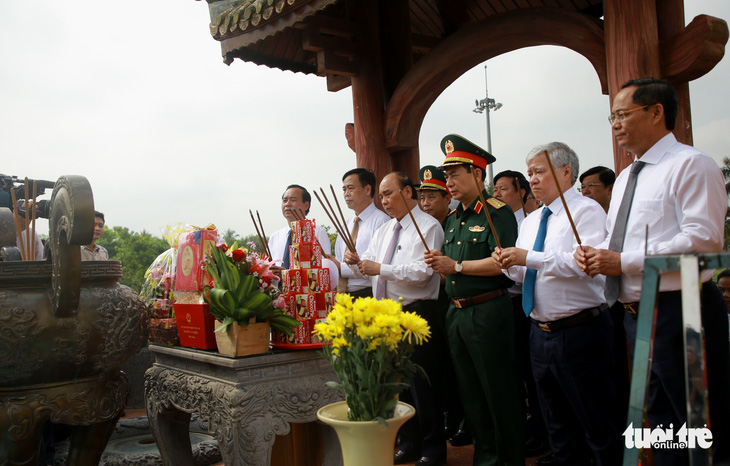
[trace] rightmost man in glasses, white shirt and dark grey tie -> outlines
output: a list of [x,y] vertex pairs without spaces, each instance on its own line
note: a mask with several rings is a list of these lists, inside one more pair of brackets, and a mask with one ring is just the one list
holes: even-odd
[[[623,303],[632,352],[645,257],[719,252],[724,241],[727,194],[722,173],[706,154],[677,142],[671,132],[677,108],[677,95],[668,81],[642,78],[621,86],[609,121],[619,146],[635,160],[614,183],[607,239],[575,254],[587,274],[607,276],[609,304],[616,299]],[[718,463],[730,459],[730,363],[724,304],[712,275],[713,270],[701,274],[701,307],[712,454]],[[675,432],[687,420],[680,290],[679,272],[662,273],[646,413],[652,428],[672,424]],[[655,449],[654,459],[662,465],[689,461],[686,449]]]

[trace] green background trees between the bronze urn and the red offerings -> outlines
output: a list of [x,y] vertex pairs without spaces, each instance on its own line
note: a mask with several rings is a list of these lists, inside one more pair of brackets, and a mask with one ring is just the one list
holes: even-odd
[[110,260],[122,263],[123,276],[119,282],[137,292],[144,285],[147,268],[157,256],[170,248],[167,241],[144,230],[136,233],[119,226],[106,228],[97,244],[106,248]]

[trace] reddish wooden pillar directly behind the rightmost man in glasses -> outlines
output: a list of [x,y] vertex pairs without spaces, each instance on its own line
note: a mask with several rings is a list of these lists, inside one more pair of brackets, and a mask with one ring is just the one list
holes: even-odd
[[[621,84],[626,81],[661,76],[657,8],[651,1],[605,0],[603,15],[608,93],[613,102]],[[616,173],[628,166],[631,160],[614,139]]]

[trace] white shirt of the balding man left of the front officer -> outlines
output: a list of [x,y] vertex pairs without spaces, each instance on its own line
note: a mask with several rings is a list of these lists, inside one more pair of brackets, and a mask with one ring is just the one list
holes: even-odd
[[[424,213],[418,205],[411,210],[416,219],[418,228],[423,234],[429,249],[441,249],[444,242],[444,230],[441,224],[432,216]],[[398,220],[392,218],[377,229],[367,251],[360,256],[361,260],[371,260],[380,264],[380,277],[388,280],[385,297],[398,300],[403,298],[403,305],[421,299],[437,299],[439,295],[440,275],[433,273],[433,269],[426,265],[423,247],[418,231],[411,221],[410,215],[405,215],[400,224],[402,229],[398,237],[398,245],[390,264],[383,264],[385,252],[393,237],[393,230]],[[349,266],[358,277],[364,278],[357,265]],[[370,277],[373,287],[373,296],[377,294],[378,276]]]

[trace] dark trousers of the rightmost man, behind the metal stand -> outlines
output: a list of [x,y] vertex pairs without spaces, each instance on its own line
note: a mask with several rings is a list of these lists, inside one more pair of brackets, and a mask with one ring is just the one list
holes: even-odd
[[[715,463],[730,460],[730,355],[728,354],[728,322],[725,302],[720,290],[711,282],[702,285],[700,293],[702,326],[705,331],[705,360],[710,402],[712,457]],[[633,359],[636,342],[636,316],[624,318]],[[687,401],[684,369],[684,337],[682,301],[677,295],[660,299],[654,334],[651,378],[646,417],[652,428],[659,424],[674,425],[676,432],[687,422]],[[656,449],[657,465],[689,464],[687,450]]]

